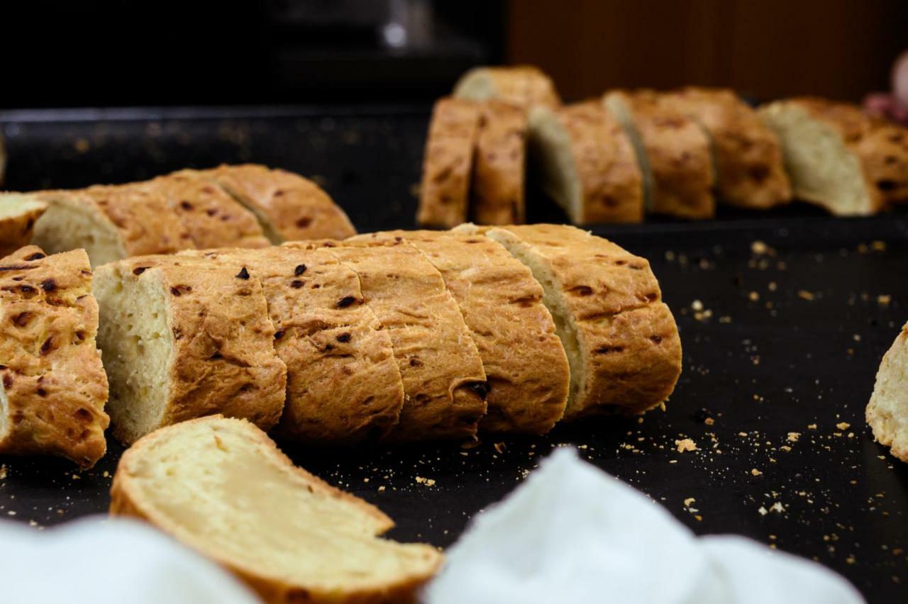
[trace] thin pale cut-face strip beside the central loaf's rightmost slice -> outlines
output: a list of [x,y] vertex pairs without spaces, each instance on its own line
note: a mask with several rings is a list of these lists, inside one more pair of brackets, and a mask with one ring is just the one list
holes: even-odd
[[543,262],[533,252],[531,246],[528,246],[507,230],[489,229],[485,235],[489,239],[498,241],[498,243],[508,249],[511,256],[526,265],[530,272],[533,273],[533,277],[542,286],[542,303],[546,305],[548,312],[555,321],[555,333],[561,339],[565,354],[568,356],[570,390],[568,391],[568,405],[565,414],[569,414],[573,410],[574,402],[577,400],[577,393],[582,391],[586,372],[583,369],[584,359],[580,354],[580,345],[577,339],[577,326],[574,324],[573,315],[565,307],[564,300],[558,293],[561,291],[561,287],[558,286],[558,279],[548,264]]

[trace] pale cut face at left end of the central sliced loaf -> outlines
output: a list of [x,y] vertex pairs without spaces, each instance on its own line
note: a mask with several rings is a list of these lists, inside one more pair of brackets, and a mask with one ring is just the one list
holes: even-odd
[[108,265],[95,271],[94,296],[101,317],[98,347],[110,383],[107,412],[117,438],[133,442],[161,424],[169,395],[173,333],[166,293],[154,279],[124,276]]

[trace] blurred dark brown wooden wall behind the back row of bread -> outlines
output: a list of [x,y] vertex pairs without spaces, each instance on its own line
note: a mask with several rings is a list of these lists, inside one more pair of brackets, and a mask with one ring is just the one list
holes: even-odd
[[908,0],[510,0],[508,62],[566,100],[611,87],[731,86],[859,101],[908,49]]

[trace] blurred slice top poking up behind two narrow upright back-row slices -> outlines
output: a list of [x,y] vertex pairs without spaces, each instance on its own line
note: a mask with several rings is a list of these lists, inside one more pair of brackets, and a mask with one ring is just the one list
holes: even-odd
[[532,65],[475,67],[460,77],[454,96],[471,101],[497,99],[525,110],[537,105],[555,109],[561,104],[551,78]]

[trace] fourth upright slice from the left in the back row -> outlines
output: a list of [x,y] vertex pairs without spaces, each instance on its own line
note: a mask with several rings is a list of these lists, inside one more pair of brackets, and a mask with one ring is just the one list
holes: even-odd
[[696,122],[661,102],[653,91],[612,91],[603,102],[634,143],[646,210],[686,219],[713,218],[713,160],[709,139]]

